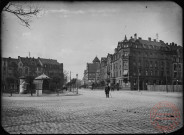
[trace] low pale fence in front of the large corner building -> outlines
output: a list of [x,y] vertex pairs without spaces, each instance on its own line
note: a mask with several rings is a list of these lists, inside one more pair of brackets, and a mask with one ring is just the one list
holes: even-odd
[[183,85],[147,85],[148,91],[182,92]]

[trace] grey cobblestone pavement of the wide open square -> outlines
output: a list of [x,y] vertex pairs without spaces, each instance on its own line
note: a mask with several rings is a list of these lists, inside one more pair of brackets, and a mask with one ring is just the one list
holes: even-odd
[[183,119],[182,93],[113,91],[105,98],[103,90],[79,89],[69,95],[2,96],[2,126],[15,134],[160,133],[150,123],[160,101],[174,103]]

